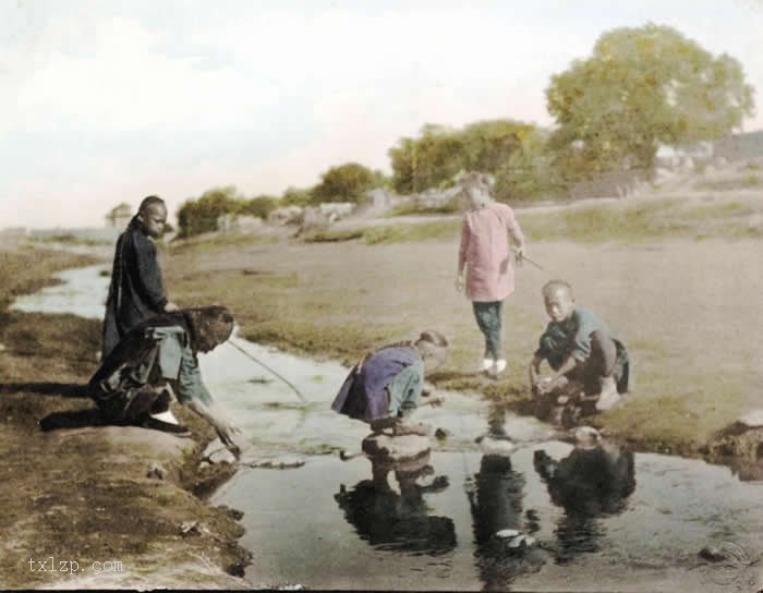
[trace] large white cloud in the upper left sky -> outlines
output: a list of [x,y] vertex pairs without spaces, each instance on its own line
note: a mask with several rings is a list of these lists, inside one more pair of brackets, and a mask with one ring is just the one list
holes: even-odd
[[278,104],[272,84],[197,69],[201,57],[167,58],[155,50],[160,40],[137,21],[99,21],[92,55],[55,49],[23,78],[5,131],[219,130]]

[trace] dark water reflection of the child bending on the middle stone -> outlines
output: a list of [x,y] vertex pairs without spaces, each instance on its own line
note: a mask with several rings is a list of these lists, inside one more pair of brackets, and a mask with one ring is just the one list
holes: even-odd
[[[363,480],[347,491],[344,484],[334,498],[344,511],[347,521],[362,540],[382,550],[437,556],[456,547],[456,529],[448,517],[431,517],[424,499],[428,493],[448,487],[446,476],[437,476],[427,485],[421,479],[434,475],[429,456],[407,463],[385,464],[372,459],[372,480]],[[400,492],[388,481],[395,472]]]

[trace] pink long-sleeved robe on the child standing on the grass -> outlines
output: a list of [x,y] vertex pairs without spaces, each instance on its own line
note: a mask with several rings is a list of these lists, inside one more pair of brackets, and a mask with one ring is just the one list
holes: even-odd
[[514,291],[514,270],[507,231],[524,244],[513,210],[493,202],[463,217],[459,270],[467,264],[467,296],[471,301],[502,301]]

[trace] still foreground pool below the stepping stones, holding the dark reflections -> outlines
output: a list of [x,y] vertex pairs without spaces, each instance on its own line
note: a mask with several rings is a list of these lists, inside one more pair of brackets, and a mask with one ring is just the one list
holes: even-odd
[[[554,461],[535,462],[543,450]],[[656,455],[581,450],[549,441],[510,459],[434,452],[433,475],[311,459],[289,471],[239,473],[217,503],[245,509],[253,582],[319,589],[724,591],[756,567],[708,565],[710,542],[760,552],[761,487],[726,468]],[[560,476],[548,479],[548,469]],[[560,469],[559,469],[560,468]],[[574,470],[574,471],[570,471]],[[436,477],[447,476],[447,485]],[[441,482],[441,481],[440,481]],[[530,533],[516,554],[496,533]],[[742,589],[750,591],[750,589]]]

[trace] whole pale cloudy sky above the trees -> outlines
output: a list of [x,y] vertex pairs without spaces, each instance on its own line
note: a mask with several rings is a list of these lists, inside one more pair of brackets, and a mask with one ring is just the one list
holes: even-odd
[[0,228],[389,172],[425,123],[552,125],[550,76],[647,22],[738,59],[763,129],[763,0],[0,0]]

